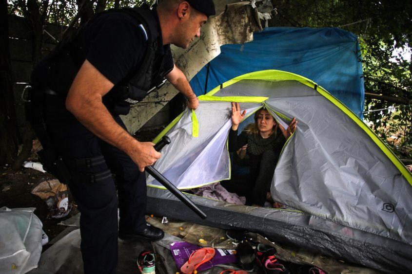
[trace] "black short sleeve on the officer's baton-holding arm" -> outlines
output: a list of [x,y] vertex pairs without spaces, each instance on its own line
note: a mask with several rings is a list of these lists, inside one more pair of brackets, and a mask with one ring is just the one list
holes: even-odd
[[141,28],[126,20],[110,19],[92,39],[86,59],[116,85],[141,62],[146,47]]

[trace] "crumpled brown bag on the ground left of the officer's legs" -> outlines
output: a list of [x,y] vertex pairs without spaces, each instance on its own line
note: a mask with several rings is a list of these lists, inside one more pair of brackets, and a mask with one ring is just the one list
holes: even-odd
[[67,185],[60,183],[59,180],[46,180],[38,183],[31,192],[39,196],[46,202],[49,208],[47,218],[63,218],[72,210],[69,202],[69,190]]

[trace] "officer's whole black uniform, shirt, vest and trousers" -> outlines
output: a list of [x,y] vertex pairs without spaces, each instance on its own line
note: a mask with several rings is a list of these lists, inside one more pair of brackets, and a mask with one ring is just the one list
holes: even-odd
[[[80,247],[85,273],[116,272],[118,207],[119,234],[133,234],[147,228],[146,179],[128,155],[80,124],[66,110],[65,99],[80,65],[87,59],[115,84],[103,97],[103,103],[115,121],[125,128],[118,114],[126,114],[129,104],[147,93],[143,90],[140,97],[127,98],[130,94],[124,92],[130,90],[128,83],[142,78],[146,82],[151,79],[153,84],[156,77],[160,74],[163,77],[174,66],[170,46],[162,45],[157,13],[147,11],[146,18],[152,19],[152,31],[133,11],[106,12],[90,20],[70,43],[60,45],[32,74],[34,93],[41,99],[34,100],[35,110],[31,113],[35,116],[41,112],[41,117],[35,120],[41,119],[37,125],[42,124],[45,129],[37,132],[39,139],[43,147],[50,148],[62,159],[63,173],[68,178],[61,180],[67,181],[81,212]],[[157,28],[157,37],[153,35],[153,27]],[[150,49],[153,56],[148,59]],[[142,67],[146,71],[142,72]],[[144,73],[146,75],[142,75]],[[138,87],[138,92],[151,83],[140,84],[147,85]],[[47,141],[43,144],[42,140]],[[112,174],[118,184],[118,199]]]

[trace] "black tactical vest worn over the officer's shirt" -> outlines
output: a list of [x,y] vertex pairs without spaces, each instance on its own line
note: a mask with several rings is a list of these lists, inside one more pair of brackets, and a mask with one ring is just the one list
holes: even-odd
[[[114,11],[119,10],[107,10],[97,16]],[[160,88],[166,81],[166,74],[172,70],[169,69],[166,71],[164,68],[167,55],[157,54],[158,47],[162,47],[163,45],[161,44],[161,33],[158,31],[159,23],[153,14],[154,12],[147,6],[141,8],[123,8],[120,11],[129,14],[141,23],[140,26],[136,27],[142,28],[142,31],[145,32],[147,37],[147,49],[141,62],[141,66],[137,71],[132,73],[132,76],[116,84],[112,90],[103,97],[104,105],[115,115],[127,114],[132,105],[137,104],[137,102],[141,101],[150,92]],[[50,55],[46,57],[45,60],[48,71],[53,71],[55,64],[60,64],[59,69],[62,69],[63,72],[67,72],[66,75],[75,76],[77,74],[86,56],[86,53],[82,51],[78,37],[80,37],[80,33],[86,26],[87,23],[80,27],[74,35],[61,41]],[[46,72],[46,75],[50,75],[50,73]],[[45,78],[47,79],[47,77],[49,76],[46,76]],[[72,82],[74,78],[66,80]],[[60,96],[67,96],[68,91],[60,91],[59,85],[54,87],[53,85],[48,85],[47,80],[42,82],[43,83],[39,84],[42,89],[50,89]],[[71,82],[69,85],[71,85]]]

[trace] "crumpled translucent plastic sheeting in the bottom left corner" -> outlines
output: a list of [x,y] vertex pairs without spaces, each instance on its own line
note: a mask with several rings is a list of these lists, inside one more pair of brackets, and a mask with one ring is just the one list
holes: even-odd
[[37,267],[43,224],[35,208],[0,208],[0,273],[26,273]]

